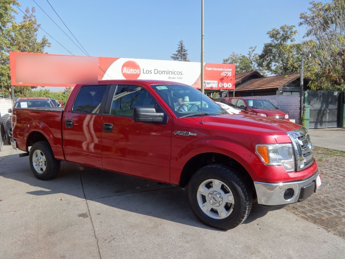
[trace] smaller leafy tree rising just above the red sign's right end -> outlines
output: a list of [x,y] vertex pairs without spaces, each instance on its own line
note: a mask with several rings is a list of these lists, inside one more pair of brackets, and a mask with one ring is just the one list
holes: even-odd
[[256,70],[259,73],[265,75],[265,71],[258,66],[259,54],[254,53],[255,47],[250,47],[248,50],[248,55],[236,54],[234,51],[228,57],[223,59],[223,64],[235,64],[236,73],[243,73],[252,70]]

